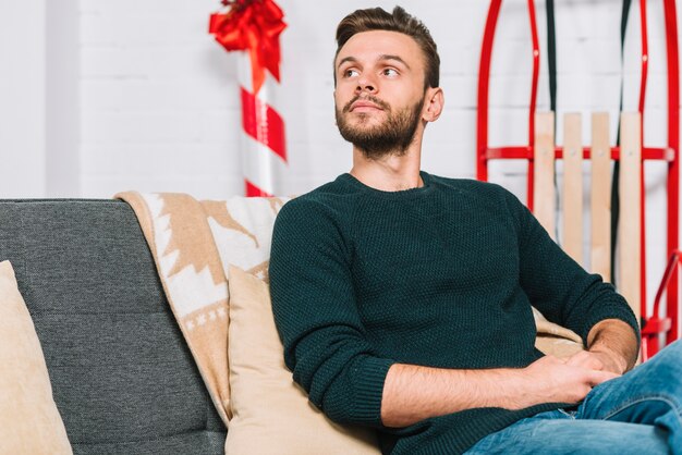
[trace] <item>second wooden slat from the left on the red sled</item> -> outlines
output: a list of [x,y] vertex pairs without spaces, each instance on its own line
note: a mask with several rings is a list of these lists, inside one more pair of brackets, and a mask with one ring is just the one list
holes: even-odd
[[583,262],[583,137],[580,113],[563,116],[563,250]]

